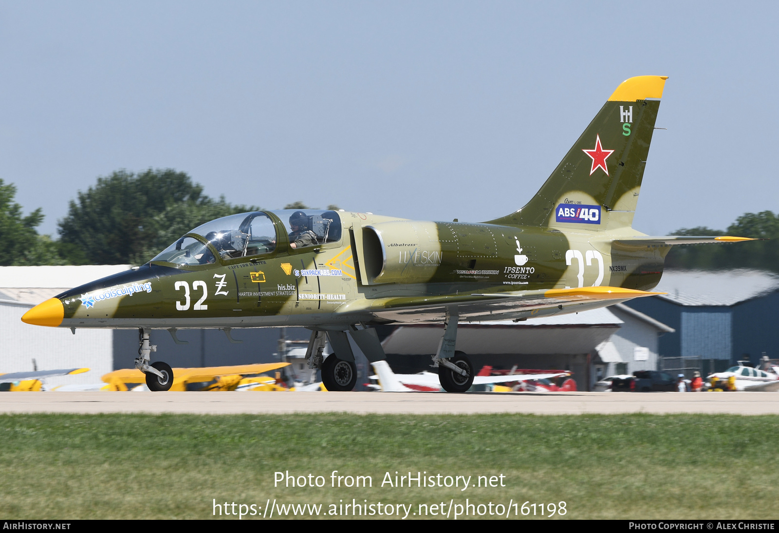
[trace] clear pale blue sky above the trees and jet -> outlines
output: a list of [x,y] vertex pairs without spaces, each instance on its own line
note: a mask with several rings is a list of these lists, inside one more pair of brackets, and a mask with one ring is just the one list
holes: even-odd
[[482,221],[630,76],[670,76],[634,227],[779,210],[760,2],[0,2],[0,178],[56,232],[97,176],[232,203]]

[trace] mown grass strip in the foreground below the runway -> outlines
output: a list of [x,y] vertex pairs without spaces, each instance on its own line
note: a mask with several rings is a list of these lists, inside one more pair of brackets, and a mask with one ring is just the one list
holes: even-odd
[[[321,518],[330,517],[330,504],[339,510],[354,499],[410,505],[409,518],[424,503],[427,517],[440,519],[429,506],[467,498],[485,509],[564,501],[563,518],[772,518],[777,422],[775,415],[0,415],[0,516],[212,518],[214,499],[261,509],[276,499],[323,504]],[[333,488],[334,470],[370,475],[372,486],[349,488],[344,478]],[[277,471],[321,475],[325,486],[274,487]],[[471,476],[471,484],[487,476],[484,485],[503,475],[506,486],[382,486],[387,472],[394,485],[396,471]],[[258,517],[262,511],[244,519]],[[490,517],[497,516],[482,518]],[[542,518],[538,507],[535,517]]]

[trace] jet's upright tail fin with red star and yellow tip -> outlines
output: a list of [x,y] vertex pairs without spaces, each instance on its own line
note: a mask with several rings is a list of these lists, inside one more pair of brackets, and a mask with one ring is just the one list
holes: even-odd
[[488,223],[630,227],[667,78],[637,76],[620,83],[536,196]]

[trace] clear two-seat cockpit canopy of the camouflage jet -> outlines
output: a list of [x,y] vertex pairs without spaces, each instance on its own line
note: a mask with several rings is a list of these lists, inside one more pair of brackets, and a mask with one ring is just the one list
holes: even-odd
[[[308,232],[305,245],[324,244],[340,240],[340,217],[332,210],[278,210],[271,211],[284,222],[283,230],[292,242],[302,232]],[[291,228],[288,221],[298,221]],[[279,228],[281,229],[281,228]],[[263,211],[234,214],[200,224],[187,235],[199,235],[216,249],[223,260],[259,256],[273,252],[277,247],[277,227],[273,219]],[[212,249],[192,236],[179,238],[152,261],[196,267],[216,263]]]

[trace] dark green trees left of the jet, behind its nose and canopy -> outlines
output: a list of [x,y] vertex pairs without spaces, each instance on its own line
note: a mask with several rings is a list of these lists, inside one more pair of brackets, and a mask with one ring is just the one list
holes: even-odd
[[[0,266],[143,264],[199,224],[259,210],[203,194],[185,172],[115,171],[70,200],[58,239],[39,235],[41,208],[28,215],[14,201],[16,186],[0,179]],[[329,206],[337,209],[337,206]],[[309,209],[294,202],[285,209]]]

